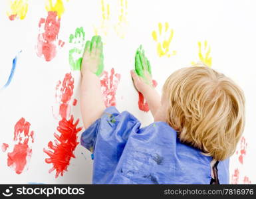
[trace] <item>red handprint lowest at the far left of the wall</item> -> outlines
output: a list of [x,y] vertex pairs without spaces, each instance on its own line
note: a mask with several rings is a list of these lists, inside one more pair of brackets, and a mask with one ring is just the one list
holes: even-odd
[[25,121],[23,117],[15,124],[14,138],[15,146],[13,152],[8,153],[7,165],[13,168],[17,174],[21,174],[28,166],[32,155],[30,146],[31,140],[34,142],[34,131],[30,131],[31,124]]

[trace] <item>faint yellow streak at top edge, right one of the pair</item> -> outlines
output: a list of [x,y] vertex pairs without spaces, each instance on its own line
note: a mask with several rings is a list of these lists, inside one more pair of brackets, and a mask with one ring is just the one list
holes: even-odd
[[118,23],[114,26],[116,34],[120,38],[124,38],[127,28],[128,28],[128,21],[127,21],[127,9],[128,9],[127,0],[119,0],[118,1]]

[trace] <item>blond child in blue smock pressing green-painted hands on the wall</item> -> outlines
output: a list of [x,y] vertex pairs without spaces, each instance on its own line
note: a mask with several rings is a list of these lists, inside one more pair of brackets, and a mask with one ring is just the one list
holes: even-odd
[[211,68],[193,66],[174,72],[160,98],[148,61],[139,56],[140,70],[131,74],[154,116],[154,123],[144,128],[128,111],[105,107],[98,78],[102,42],[94,36],[86,43],[80,86],[86,130],[81,145],[94,153],[92,182],[228,184],[229,157],[244,128],[241,89]]

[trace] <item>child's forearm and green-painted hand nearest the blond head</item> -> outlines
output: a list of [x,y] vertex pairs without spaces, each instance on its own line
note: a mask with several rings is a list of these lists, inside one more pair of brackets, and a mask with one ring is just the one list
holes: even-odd
[[146,98],[150,111],[156,119],[156,112],[161,106],[161,97],[152,84],[152,74],[150,62],[144,54],[142,47],[138,48],[135,56],[135,71],[131,71],[134,86]]

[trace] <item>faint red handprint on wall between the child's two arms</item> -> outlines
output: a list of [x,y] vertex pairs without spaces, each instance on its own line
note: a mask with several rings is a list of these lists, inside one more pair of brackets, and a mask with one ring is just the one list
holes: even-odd
[[106,107],[116,105],[116,90],[118,88],[120,78],[120,74],[114,74],[114,68],[111,69],[109,77],[108,72],[103,72],[100,84]]

